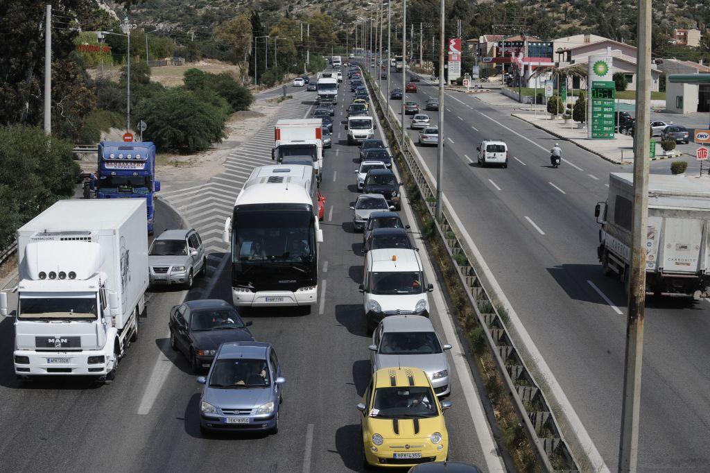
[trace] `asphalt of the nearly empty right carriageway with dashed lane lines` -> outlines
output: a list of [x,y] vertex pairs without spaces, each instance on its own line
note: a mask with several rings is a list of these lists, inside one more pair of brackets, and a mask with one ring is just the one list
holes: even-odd
[[[391,88],[401,88],[401,75],[393,72],[391,82]],[[382,84],[386,90],[386,81]],[[406,94],[437,124],[437,112],[423,111],[430,97],[438,97],[438,89],[425,80],[417,93]],[[390,104],[401,110],[400,101]],[[513,118],[509,110],[449,91],[444,107],[444,196],[606,467],[616,470],[626,297],[618,280],[601,273],[594,205],[606,200],[608,173],[632,172],[631,166],[613,165],[559,141],[564,160],[555,169],[548,150],[557,138]],[[417,141],[417,132],[408,133]],[[476,146],[484,138],[506,141],[507,169],[476,163]],[[435,175],[437,149],[417,149]],[[651,170],[670,173],[670,162],[652,162]],[[709,309],[708,300],[647,301],[640,471],[710,468]]]

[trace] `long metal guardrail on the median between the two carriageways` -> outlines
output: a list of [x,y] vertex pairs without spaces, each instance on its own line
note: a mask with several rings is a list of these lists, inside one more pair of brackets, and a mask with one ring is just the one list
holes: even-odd
[[[429,176],[420,168],[417,158],[412,152],[413,143],[411,138],[405,135],[405,143],[400,142],[401,126],[404,125],[398,123],[396,116],[387,107],[386,98],[383,97],[381,90],[373,83],[371,75],[365,72],[365,76],[370,89],[377,91],[376,96],[381,116],[384,117],[393,132],[403,161],[407,164],[408,171],[426,203],[425,207],[436,224],[439,237],[444,242],[454,268],[458,269],[459,280],[466,288],[466,295],[474,308],[474,312],[476,312],[479,325],[484,329],[488,349],[493,354],[498,371],[506,382],[508,392],[513,398],[513,406],[518,418],[520,418],[520,422],[523,424],[525,435],[535,450],[537,460],[540,461],[542,469],[548,472],[579,471],[577,462],[575,462],[571,452],[569,452],[569,447],[567,447],[567,443],[564,441],[562,433],[560,433],[557,420],[554,413],[552,413],[552,408],[550,408],[550,403],[547,402],[545,394],[542,393],[542,389],[533,378],[530,369],[525,365],[523,357],[510,337],[505,320],[498,312],[498,308],[496,308],[494,299],[491,298],[488,290],[484,287],[484,283],[475,266],[471,264],[474,259],[471,259],[466,254],[466,244],[464,244],[464,239],[461,237],[461,229],[457,228],[456,224],[452,223],[453,219],[450,218],[452,215],[451,210],[442,202],[442,221],[437,221],[435,218],[436,185],[430,181]],[[449,234],[454,234],[454,238],[450,238]],[[466,263],[459,264],[454,259],[455,254],[464,255]],[[564,464],[560,465],[562,468],[555,469],[552,466],[550,457],[553,454]],[[561,462],[556,461],[555,463],[559,465]]]

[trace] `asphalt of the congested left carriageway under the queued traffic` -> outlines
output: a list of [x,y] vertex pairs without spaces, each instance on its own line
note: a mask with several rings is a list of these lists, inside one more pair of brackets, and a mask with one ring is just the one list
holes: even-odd
[[[315,92],[288,89],[307,116]],[[197,411],[201,386],[196,384],[188,361],[169,347],[168,313],[173,305],[196,298],[231,300],[229,266],[224,264],[223,250],[215,250],[208,258],[207,276],[197,278],[190,291],[151,292],[138,342],[130,347],[110,385],[75,379],[16,381],[12,318],[1,320],[0,430],[4,440],[0,442],[0,470],[307,473],[362,469],[355,405],[369,381],[369,339],[362,295],[357,290],[363,261],[361,235],[351,228],[349,210],[357,195],[357,148],[346,145],[340,123],[344,105],[350,103],[345,90],[341,87],[333,147],[326,153],[321,186],[327,202],[322,222],[324,243],[320,246],[320,303],[310,315],[288,308],[243,312],[245,320],[253,321],[250,330],[254,337],[273,343],[283,366],[287,381],[279,433],[203,437]],[[273,136],[273,128],[265,126],[258,136]],[[217,187],[212,189],[219,192]],[[172,208],[158,200],[156,229],[182,226],[181,216]],[[402,217],[408,219],[404,211]],[[201,226],[224,223],[218,217],[210,218]],[[416,225],[410,223],[415,245],[423,248]],[[427,271],[426,277],[436,283],[432,271]],[[432,321],[439,336],[447,339],[445,334],[453,331],[446,327],[450,319],[441,289],[437,286],[430,297],[436,303],[432,305]],[[454,364],[466,367],[465,358],[461,362],[453,355],[461,357],[455,349],[449,355],[452,369]],[[496,448],[486,443],[492,442],[487,428],[476,428],[481,421],[485,425],[484,414],[476,409],[477,390],[482,388],[464,390],[462,384],[470,386],[471,379],[466,374],[462,383],[459,373],[454,372],[449,398],[454,406],[446,414],[449,459],[474,463],[488,471],[498,457]],[[486,452],[481,445],[488,445]],[[493,463],[487,463],[491,458]]]

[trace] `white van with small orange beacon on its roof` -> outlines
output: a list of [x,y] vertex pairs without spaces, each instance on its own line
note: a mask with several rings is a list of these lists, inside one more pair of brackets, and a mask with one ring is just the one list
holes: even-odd
[[425,283],[422,260],[415,249],[375,249],[365,254],[363,308],[367,330],[377,327],[388,315],[429,317],[428,294],[434,290]]

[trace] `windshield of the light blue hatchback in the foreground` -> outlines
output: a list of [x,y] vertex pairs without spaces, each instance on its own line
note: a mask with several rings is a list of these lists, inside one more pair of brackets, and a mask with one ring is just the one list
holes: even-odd
[[267,388],[271,386],[265,359],[220,358],[209,375],[210,388]]

